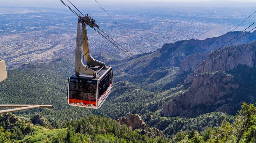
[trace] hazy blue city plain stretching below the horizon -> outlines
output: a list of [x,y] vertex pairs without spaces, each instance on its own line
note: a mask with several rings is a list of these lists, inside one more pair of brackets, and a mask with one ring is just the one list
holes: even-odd
[[[104,12],[94,11],[90,16],[103,31],[129,52],[139,54],[155,51],[164,43],[220,36],[233,30],[250,13],[250,10],[225,12],[214,9],[187,9],[183,12],[182,8],[169,11],[110,11],[131,39]],[[0,57],[6,60],[7,68],[54,61],[63,56],[73,60],[77,17],[67,9],[4,7],[0,9],[0,19]],[[247,23],[249,22],[250,20]],[[236,30],[243,29],[247,23]],[[101,35],[89,27],[87,31],[93,55],[124,57]]]

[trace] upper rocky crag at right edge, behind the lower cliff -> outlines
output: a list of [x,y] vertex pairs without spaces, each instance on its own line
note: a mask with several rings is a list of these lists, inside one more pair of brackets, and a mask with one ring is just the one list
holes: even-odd
[[[202,68],[190,74],[184,83],[191,83],[195,75],[204,72],[214,72],[218,70],[229,71],[238,65],[247,65],[252,68],[256,65],[256,42],[250,44],[237,45],[233,48],[227,47],[222,51],[213,51],[206,60],[202,61],[198,67]],[[230,49],[230,50],[229,50]],[[227,51],[227,52],[225,52]]]

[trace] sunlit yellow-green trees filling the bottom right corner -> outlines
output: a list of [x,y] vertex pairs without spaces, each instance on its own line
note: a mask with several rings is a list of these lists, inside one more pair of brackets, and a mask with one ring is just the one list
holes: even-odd
[[192,129],[176,134],[175,142],[187,143],[255,143],[256,142],[256,106],[242,104],[242,109],[236,114],[234,123],[224,118],[218,127],[208,127],[201,131]]

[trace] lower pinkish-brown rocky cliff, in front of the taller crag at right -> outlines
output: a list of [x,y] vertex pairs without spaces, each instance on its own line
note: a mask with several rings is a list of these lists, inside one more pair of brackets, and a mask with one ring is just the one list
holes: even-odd
[[163,106],[161,114],[194,117],[216,110],[232,112],[232,106],[227,108],[225,105],[229,104],[230,98],[232,98],[229,93],[237,88],[239,85],[234,81],[234,77],[224,71],[199,74],[195,76],[187,92],[175,96]]

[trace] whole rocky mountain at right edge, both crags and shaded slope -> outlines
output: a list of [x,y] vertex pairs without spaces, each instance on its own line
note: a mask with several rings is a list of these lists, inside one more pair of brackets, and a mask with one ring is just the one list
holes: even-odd
[[[199,67],[220,54],[221,51],[214,51]],[[235,114],[242,101],[254,103],[255,59],[256,42],[235,46],[189,75],[184,80],[184,84],[191,85],[188,91],[165,104],[161,114],[184,117],[213,111]]]

